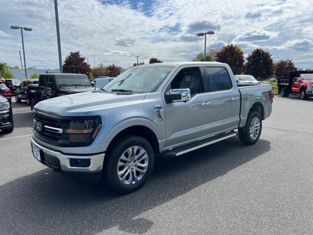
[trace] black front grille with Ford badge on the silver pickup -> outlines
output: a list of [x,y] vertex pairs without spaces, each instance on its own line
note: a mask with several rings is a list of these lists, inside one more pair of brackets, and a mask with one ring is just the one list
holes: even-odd
[[[41,130],[36,128],[37,123],[40,123]],[[68,140],[68,135],[62,133],[62,129],[67,129],[67,126],[68,121],[62,121],[58,118],[47,117],[34,112],[34,134],[43,141],[59,142]]]

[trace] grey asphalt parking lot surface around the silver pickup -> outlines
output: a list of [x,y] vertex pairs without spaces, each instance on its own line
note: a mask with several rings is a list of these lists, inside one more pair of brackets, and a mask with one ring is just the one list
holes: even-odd
[[0,234],[313,234],[313,98],[275,96],[260,140],[232,138],[158,159],[140,190],[45,167],[32,156],[32,114],[13,102],[0,133]]

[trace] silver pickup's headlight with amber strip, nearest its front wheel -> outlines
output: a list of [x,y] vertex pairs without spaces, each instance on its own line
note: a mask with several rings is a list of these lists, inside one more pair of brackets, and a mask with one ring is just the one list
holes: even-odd
[[69,134],[69,141],[83,143],[87,142],[91,135],[94,139],[101,126],[101,123],[95,126],[94,120],[75,120],[69,122],[69,129],[65,130],[65,133]]

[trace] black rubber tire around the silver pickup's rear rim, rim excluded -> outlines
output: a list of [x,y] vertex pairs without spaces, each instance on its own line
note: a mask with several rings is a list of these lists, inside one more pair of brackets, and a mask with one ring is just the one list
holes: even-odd
[[[258,118],[259,119],[259,123],[260,123],[260,128],[259,128],[259,133],[257,135],[257,137],[254,139],[250,136],[250,125],[251,125],[251,122],[254,118]],[[255,111],[250,111],[249,115],[248,115],[248,118],[246,119],[246,125],[242,128],[239,128],[238,129],[238,132],[239,132],[239,139],[240,141],[242,141],[244,144],[248,144],[248,145],[251,145],[251,144],[255,144],[260,136],[261,136],[261,132],[262,132],[262,118],[261,118],[261,115],[258,113],[258,112],[255,112]]]

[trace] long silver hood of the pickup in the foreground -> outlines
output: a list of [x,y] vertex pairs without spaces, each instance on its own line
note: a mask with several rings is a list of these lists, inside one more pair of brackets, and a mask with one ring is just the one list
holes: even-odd
[[116,94],[93,91],[46,99],[36,104],[34,108],[59,116],[86,116],[91,111],[140,103],[145,96],[146,94]]

